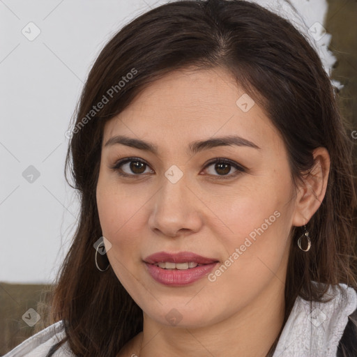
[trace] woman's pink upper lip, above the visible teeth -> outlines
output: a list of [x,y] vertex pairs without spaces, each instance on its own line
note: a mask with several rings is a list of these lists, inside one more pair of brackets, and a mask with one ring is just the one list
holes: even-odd
[[160,262],[171,262],[171,263],[185,263],[193,261],[197,264],[211,264],[216,261],[217,259],[202,257],[201,255],[197,255],[192,252],[178,252],[178,253],[169,253],[169,252],[157,252],[149,257],[144,259],[146,263],[155,264]]

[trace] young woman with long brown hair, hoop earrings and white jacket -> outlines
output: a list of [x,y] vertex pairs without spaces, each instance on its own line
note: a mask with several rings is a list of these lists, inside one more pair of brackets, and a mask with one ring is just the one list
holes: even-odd
[[356,356],[351,144],[287,20],[224,0],[141,15],[70,137],[82,208],[52,326],[7,356]]

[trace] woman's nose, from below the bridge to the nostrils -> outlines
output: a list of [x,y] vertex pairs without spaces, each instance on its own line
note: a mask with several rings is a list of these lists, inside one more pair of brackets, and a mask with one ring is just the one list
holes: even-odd
[[196,233],[202,227],[202,202],[188,188],[184,176],[176,183],[164,177],[162,188],[153,197],[149,227],[156,234],[174,238]]

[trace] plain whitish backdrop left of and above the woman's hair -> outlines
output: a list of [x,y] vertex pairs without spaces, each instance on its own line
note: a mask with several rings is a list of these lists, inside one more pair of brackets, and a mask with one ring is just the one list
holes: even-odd
[[[166,2],[0,0],[0,281],[54,279],[77,224],[78,202],[63,174],[65,133],[86,75],[123,24]],[[324,24],[325,0],[293,3],[307,26]],[[32,41],[22,33],[34,33],[29,22],[40,29]],[[323,57],[328,68],[333,57]],[[40,174],[32,182],[23,176],[30,165]]]

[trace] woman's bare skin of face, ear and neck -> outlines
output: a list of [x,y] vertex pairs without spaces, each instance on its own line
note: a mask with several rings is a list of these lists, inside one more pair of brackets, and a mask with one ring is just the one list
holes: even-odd
[[[158,351],[160,356],[266,356],[278,336],[291,227],[305,225],[319,208],[330,161],[326,149],[316,149],[315,167],[295,188],[278,130],[257,102],[248,112],[236,105],[243,93],[221,68],[178,70],[105,124],[96,192],[100,225],[112,244],[106,248],[114,273],[144,313],[143,332],[118,356],[159,356]],[[151,142],[158,155],[123,144],[105,146],[115,135]],[[191,142],[224,135],[239,135],[260,149],[186,152]],[[128,157],[147,164],[135,172],[124,164],[121,169],[132,178],[110,168]],[[233,176],[233,166],[206,167],[213,158],[248,169]],[[172,165],[183,173],[176,183],[165,176]],[[250,239],[249,248],[214,282],[204,277],[167,287],[146,271],[143,259],[162,250],[195,252],[220,266],[275,211],[279,218],[256,241]],[[172,309],[181,316],[175,326],[165,318]]]

